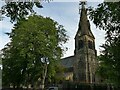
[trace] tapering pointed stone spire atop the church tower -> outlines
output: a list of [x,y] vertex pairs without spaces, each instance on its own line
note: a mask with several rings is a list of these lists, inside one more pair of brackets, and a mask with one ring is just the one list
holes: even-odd
[[79,13],[80,13],[80,11],[81,11],[81,13],[80,13],[78,33],[80,34],[80,36],[88,35],[88,36],[94,38],[94,36],[90,30],[90,23],[87,18],[87,10],[85,8],[85,4],[86,4],[86,1],[81,1],[79,4],[81,6],[81,9],[79,9]]

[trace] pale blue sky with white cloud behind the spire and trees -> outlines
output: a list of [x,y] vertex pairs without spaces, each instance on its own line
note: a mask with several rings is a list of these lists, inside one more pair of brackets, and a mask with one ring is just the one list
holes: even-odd
[[[90,0],[88,0],[90,1]],[[97,7],[97,5],[102,2],[95,2],[95,0],[91,0],[87,2],[86,7],[93,6]],[[2,4],[0,3],[0,6]],[[59,0],[46,3],[42,3],[43,8],[39,9],[34,7],[35,11],[38,15],[42,15],[44,17],[50,17],[53,20],[57,21],[60,25],[63,25],[67,31],[69,41],[64,45],[68,48],[66,52],[64,52],[63,57],[68,57],[74,55],[75,43],[74,37],[78,30],[78,23],[80,19],[79,14],[79,0],[64,0],[64,2],[60,2]],[[97,54],[100,52],[100,45],[105,42],[105,32],[103,30],[99,30],[96,26],[90,21],[91,31],[95,36],[95,46],[97,50]],[[13,25],[10,23],[9,18],[4,18],[3,21],[0,21],[0,49],[4,48],[4,45],[10,42],[10,39],[5,32],[11,32]]]

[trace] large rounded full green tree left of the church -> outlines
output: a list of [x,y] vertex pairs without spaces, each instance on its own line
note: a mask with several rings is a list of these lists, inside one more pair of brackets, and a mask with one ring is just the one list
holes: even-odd
[[[55,66],[68,36],[62,25],[37,15],[20,20],[3,49],[3,81],[14,87],[44,86],[46,76],[55,75]],[[14,76],[14,77],[13,77]]]

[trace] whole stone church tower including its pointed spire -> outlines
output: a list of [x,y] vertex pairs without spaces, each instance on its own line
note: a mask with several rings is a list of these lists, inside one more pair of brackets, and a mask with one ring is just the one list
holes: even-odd
[[80,5],[80,21],[75,36],[73,79],[81,83],[94,83],[96,69],[95,37],[90,29],[85,2],[81,2]]

